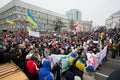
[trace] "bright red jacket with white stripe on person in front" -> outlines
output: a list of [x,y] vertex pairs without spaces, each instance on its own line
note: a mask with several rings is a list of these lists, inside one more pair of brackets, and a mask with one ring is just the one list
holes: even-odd
[[29,60],[26,63],[26,68],[29,73],[31,74],[38,74],[39,69],[37,68],[37,65],[35,64],[35,60]]

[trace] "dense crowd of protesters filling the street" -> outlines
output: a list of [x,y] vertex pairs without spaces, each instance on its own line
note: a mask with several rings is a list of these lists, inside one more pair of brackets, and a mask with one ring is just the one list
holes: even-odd
[[[60,80],[61,77],[65,80],[95,80],[93,66],[80,70],[75,63],[79,60],[86,66],[87,59],[106,45],[107,54],[111,54],[113,59],[116,55],[120,56],[119,31],[104,31],[100,40],[101,32],[45,33],[39,38],[31,37],[27,33],[21,35],[18,32],[3,32],[0,33],[0,63],[12,60],[30,80]],[[98,41],[98,44],[93,41]],[[70,69],[61,75],[60,62],[51,69],[51,54],[70,55]],[[104,61],[107,60],[106,56]]]

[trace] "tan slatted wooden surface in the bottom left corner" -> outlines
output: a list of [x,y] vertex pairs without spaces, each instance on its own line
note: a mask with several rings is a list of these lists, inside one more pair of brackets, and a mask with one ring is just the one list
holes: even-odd
[[27,76],[14,63],[0,65],[0,80],[28,80]]

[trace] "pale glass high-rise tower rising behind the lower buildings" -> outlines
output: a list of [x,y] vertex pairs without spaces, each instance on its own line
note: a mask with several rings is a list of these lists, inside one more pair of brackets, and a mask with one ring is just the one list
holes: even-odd
[[70,20],[81,21],[81,12],[77,9],[71,9],[70,11],[67,11],[66,16]]

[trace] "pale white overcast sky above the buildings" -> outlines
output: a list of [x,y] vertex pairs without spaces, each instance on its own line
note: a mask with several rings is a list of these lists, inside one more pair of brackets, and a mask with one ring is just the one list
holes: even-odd
[[[0,0],[0,8],[11,0]],[[70,9],[79,9],[82,20],[92,20],[94,25],[104,25],[105,20],[120,10],[120,0],[22,0],[30,4],[65,14]]]

